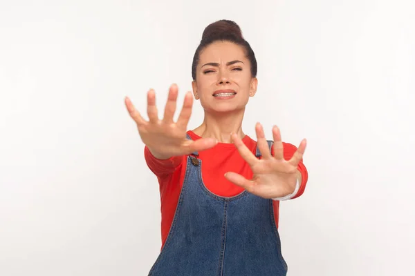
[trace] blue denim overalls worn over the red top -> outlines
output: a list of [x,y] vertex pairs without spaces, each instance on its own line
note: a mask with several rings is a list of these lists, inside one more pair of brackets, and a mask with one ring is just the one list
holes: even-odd
[[273,199],[246,190],[234,197],[214,195],[203,184],[197,156],[187,157],[172,226],[149,275],[286,275]]

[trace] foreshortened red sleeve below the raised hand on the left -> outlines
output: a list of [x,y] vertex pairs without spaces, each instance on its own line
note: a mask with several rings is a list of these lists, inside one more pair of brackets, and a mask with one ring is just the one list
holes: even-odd
[[147,162],[147,166],[158,178],[163,178],[172,174],[183,161],[183,157],[181,156],[174,156],[169,159],[157,159],[151,154],[147,146],[144,148],[144,157]]

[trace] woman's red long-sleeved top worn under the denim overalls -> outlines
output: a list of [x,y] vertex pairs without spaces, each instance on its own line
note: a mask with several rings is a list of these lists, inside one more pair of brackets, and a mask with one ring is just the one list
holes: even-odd
[[[192,140],[200,139],[201,137],[189,130],[187,132]],[[243,137],[243,143],[255,154],[257,150],[257,141],[251,139],[248,135]],[[284,143],[284,159],[288,160],[293,157],[297,147]],[[145,147],[145,160],[147,166],[157,176],[160,184],[160,200],[161,200],[161,239],[162,248],[169,234],[170,227],[176,212],[178,197],[183,186],[183,179],[185,177],[187,156],[171,157],[169,159],[156,159],[151,152]],[[274,154],[273,150],[271,150]],[[243,192],[243,188],[233,184],[225,179],[223,176],[225,172],[237,172],[246,179],[252,179],[252,170],[248,163],[239,155],[239,152],[234,144],[218,143],[213,148],[199,152],[199,159],[202,160],[202,177],[203,183],[210,192],[221,197],[232,197]],[[298,170],[302,174],[302,183],[295,195],[299,197],[304,193],[308,174],[306,167],[302,161],[298,164]],[[214,172],[214,173],[212,173]],[[293,198],[295,198],[293,197]],[[278,227],[279,217],[279,201],[273,201],[275,222]]]

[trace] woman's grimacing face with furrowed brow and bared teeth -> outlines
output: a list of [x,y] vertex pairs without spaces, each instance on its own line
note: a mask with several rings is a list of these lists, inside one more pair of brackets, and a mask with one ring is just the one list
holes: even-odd
[[192,87],[206,111],[232,112],[243,110],[255,95],[257,78],[252,78],[243,47],[217,41],[201,51]]

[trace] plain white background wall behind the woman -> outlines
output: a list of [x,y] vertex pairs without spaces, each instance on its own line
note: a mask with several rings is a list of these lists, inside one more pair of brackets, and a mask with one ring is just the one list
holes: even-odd
[[[0,4],[0,275],[147,275],[156,177],[124,108],[191,89],[205,26],[255,50],[256,121],[308,139],[281,204],[288,275],[415,275],[413,1],[6,1]],[[203,110],[195,102],[189,128]]]

